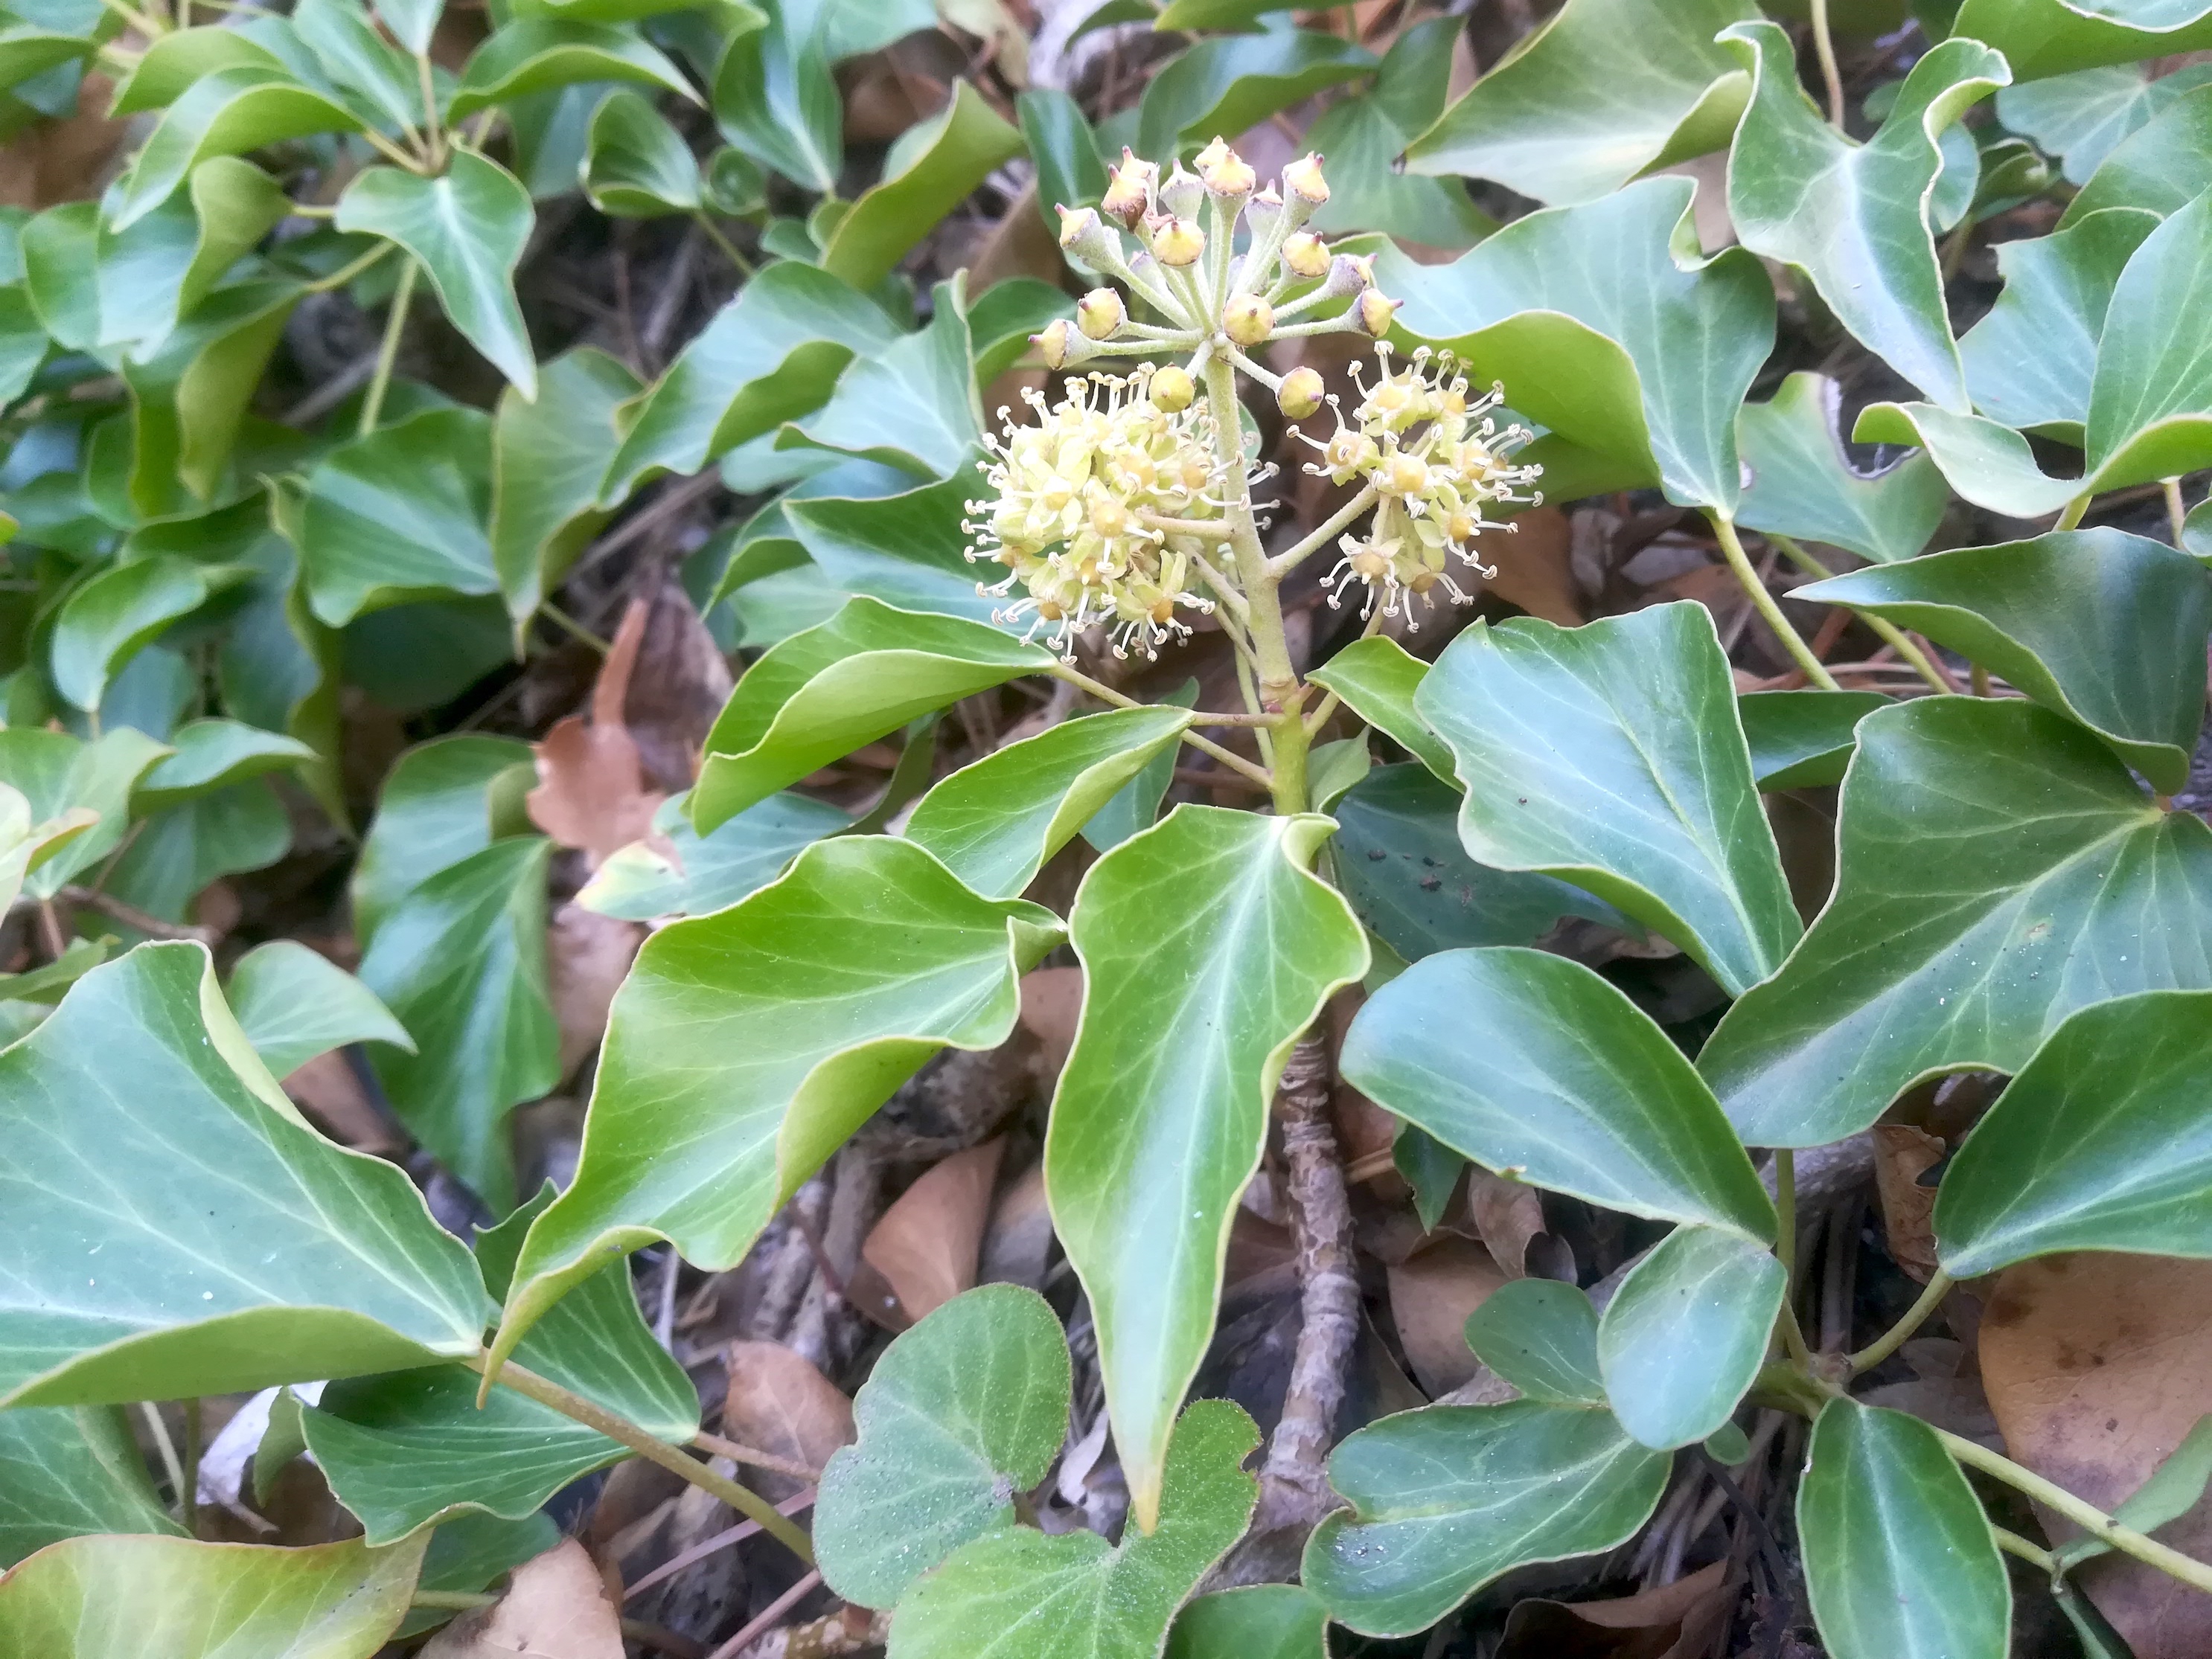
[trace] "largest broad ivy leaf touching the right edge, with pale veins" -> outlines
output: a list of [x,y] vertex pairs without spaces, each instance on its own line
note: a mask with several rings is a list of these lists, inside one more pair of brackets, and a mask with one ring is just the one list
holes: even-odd
[[2154,807],[2081,728],[2013,699],[1876,710],[1843,781],[1836,894],[1699,1071],[1747,1144],[1827,1146],[1922,1077],[2020,1068],[2088,1002],[2212,989],[2203,951],[2146,949],[2197,902],[2212,830]]

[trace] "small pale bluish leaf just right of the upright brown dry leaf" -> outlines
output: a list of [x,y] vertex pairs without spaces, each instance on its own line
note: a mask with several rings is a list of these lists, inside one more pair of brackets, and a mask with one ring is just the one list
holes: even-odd
[[628,922],[706,916],[757,894],[801,849],[849,827],[852,816],[827,801],[785,790],[701,836],[690,827],[684,796],[672,796],[653,814],[653,841],[617,847],[575,902]]

